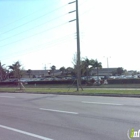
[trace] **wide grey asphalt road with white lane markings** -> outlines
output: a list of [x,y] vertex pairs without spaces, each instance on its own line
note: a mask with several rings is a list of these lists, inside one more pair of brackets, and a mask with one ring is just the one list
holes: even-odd
[[139,98],[0,93],[0,140],[128,140],[132,128]]

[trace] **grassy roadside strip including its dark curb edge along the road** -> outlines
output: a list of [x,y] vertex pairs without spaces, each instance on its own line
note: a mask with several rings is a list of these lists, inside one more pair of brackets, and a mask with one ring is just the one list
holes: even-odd
[[76,88],[0,88],[0,92],[24,92],[41,94],[60,94],[60,95],[90,95],[90,96],[117,96],[117,97],[140,97],[140,89],[123,88],[84,88],[79,92]]

